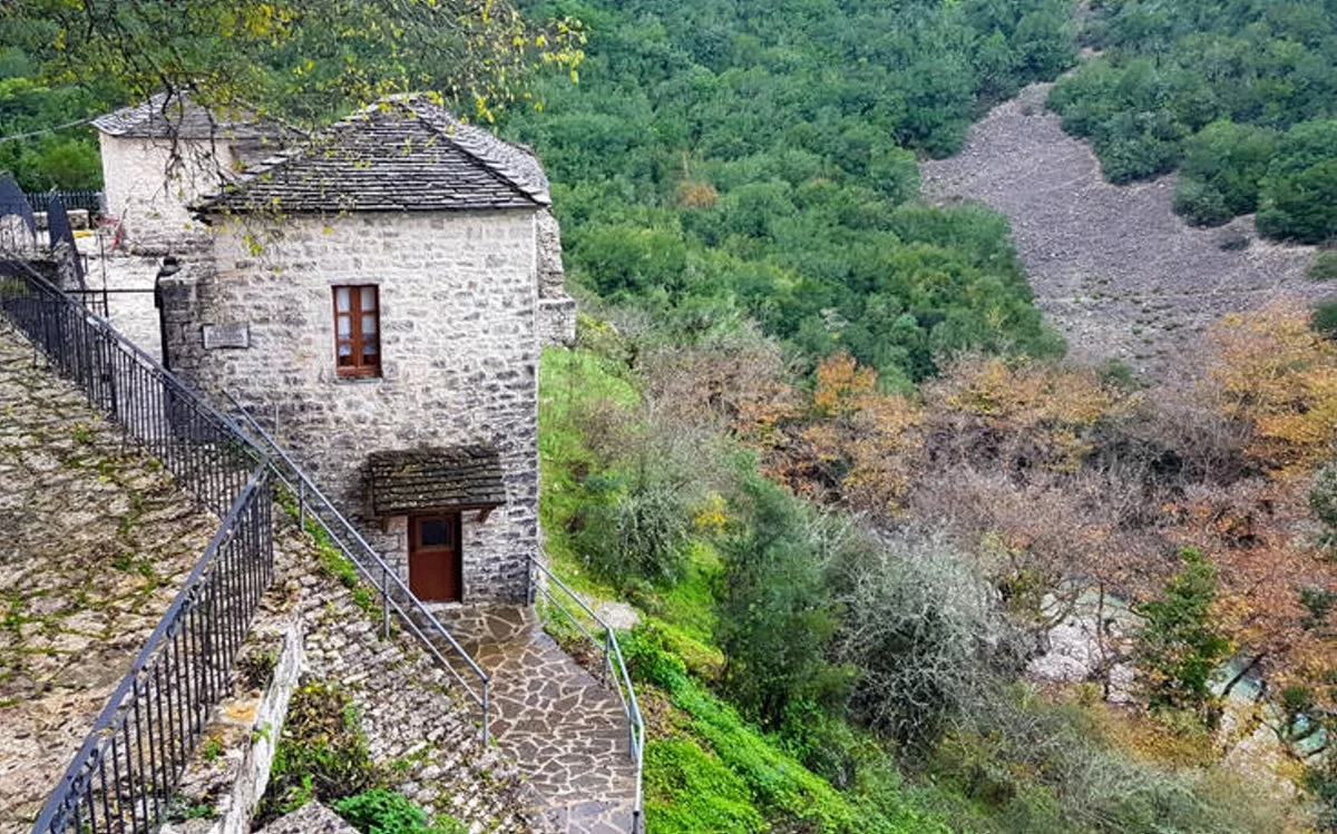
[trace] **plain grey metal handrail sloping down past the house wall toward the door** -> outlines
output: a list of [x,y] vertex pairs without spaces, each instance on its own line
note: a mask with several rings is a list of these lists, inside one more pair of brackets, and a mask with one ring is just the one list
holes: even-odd
[[[278,441],[274,440],[274,437],[269,432],[266,432],[262,425],[259,425],[255,417],[251,416],[251,413],[247,412],[246,408],[241,402],[238,402],[235,397],[231,396],[231,393],[225,392],[225,394],[231,401],[233,406],[237,409],[237,413],[241,414],[242,421],[250,428],[250,430],[255,433],[255,436],[259,438],[259,442],[267,450],[266,457],[269,460],[269,465],[274,472],[274,474],[283,482],[285,486],[287,486],[290,492],[293,492],[297,496],[298,525],[305,529],[308,507],[314,503],[314,507],[312,509],[316,512],[310,513],[312,517],[314,517],[316,521],[321,525],[321,529],[325,531],[325,535],[330,537],[330,541],[333,541],[336,547],[338,547],[340,551],[344,552],[344,555],[349,559],[349,561],[353,563],[353,565],[362,575],[362,577],[373,588],[377,588],[381,592],[382,631],[385,636],[389,636],[390,634],[390,609],[393,608],[394,612],[400,616],[400,620],[402,620],[402,623],[408,626],[408,628],[413,632],[413,635],[418,639],[418,642],[421,642],[427,647],[427,650],[432,654],[436,662],[444,666],[447,671],[449,671],[451,675],[455,676],[460,687],[483,711],[483,743],[487,744],[488,739],[491,738],[489,735],[491,731],[488,727],[491,718],[491,680],[487,672],[484,672],[483,667],[480,667],[477,662],[469,655],[469,652],[465,651],[463,646],[460,646],[459,640],[455,639],[455,636],[445,628],[445,626],[443,626],[441,621],[431,611],[428,611],[427,605],[422,604],[422,601],[409,589],[409,587],[404,584],[404,580],[400,579],[398,572],[390,568],[385,563],[385,560],[381,559],[381,555],[376,551],[376,548],[373,548],[370,544],[366,543],[366,539],[364,539],[362,535],[357,532],[357,528],[354,528],[353,524],[344,517],[344,513],[341,513],[334,507],[334,504],[325,497],[325,493],[322,493],[320,488],[314,482],[312,482],[310,477],[308,477],[306,473],[302,470],[302,468],[297,465],[297,461],[294,461],[291,456],[289,456],[287,452],[285,452],[283,448],[278,445]],[[333,527],[330,523],[325,520],[326,515],[330,519],[333,519],[334,521]],[[338,531],[336,531],[334,527],[337,527]],[[342,536],[340,535],[341,532]],[[352,540],[357,545],[358,551],[366,559],[366,561],[370,563],[370,565],[365,564],[362,559],[358,559],[358,555],[354,553],[353,548],[345,544],[345,537]],[[377,577],[373,575],[373,568],[380,572],[380,584],[377,584]],[[441,652],[437,648],[437,644],[431,639],[431,636],[422,634],[422,631],[414,621],[413,616],[410,616],[410,612],[405,611],[404,607],[400,604],[400,599],[406,600],[412,612],[417,613],[427,623],[428,631],[444,639],[445,643],[451,647],[451,650],[453,650],[455,654],[459,655],[461,660],[464,660],[468,668],[479,679],[480,691],[476,692],[475,688],[471,687],[469,683],[464,679],[464,676],[459,671],[456,671],[455,666],[452,666],[451,662],[447,660],[444,655],[441,655]]]

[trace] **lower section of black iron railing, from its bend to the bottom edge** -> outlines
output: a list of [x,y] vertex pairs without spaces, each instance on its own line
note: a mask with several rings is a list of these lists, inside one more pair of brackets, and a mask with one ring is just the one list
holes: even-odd
[[33,833],[152,831],[274,577],[259,465],[47,801]]

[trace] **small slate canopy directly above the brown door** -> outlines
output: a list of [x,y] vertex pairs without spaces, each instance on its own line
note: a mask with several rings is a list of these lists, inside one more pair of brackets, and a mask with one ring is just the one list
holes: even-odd
[[505,504],[501,457],[491,446],[373,452],[366,481],[376,517]]

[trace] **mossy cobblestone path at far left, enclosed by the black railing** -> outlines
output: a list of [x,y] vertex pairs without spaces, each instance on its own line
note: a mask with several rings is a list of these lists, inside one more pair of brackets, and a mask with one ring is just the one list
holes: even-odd
[[28,830],[217,528],[0,322],[0,833]]

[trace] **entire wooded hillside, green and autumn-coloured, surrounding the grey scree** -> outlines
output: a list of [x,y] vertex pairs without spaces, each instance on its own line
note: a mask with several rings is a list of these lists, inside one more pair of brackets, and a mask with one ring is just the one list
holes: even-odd
[[[1007,221],[917,170],[1058,79],[1111,180],[1178,170],[1191,222],[1328,241],[1332,4],[523,11],[580,21],[579,61],[452,100],[552,179],[582,311],[540,368],[541,523],[639,615],[648,830],[1337,829],[1337,342],[1278,305],[1174,382],[1064,360]],[[289,118],[405,82],[283,95],[301,49],[261,31],[243,92]],[[4,135],[134,94],[3,55]],[[83,127],[4,167],[98,176]]]

